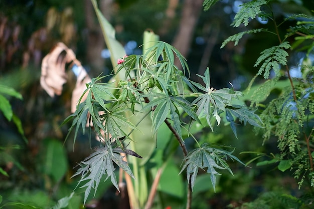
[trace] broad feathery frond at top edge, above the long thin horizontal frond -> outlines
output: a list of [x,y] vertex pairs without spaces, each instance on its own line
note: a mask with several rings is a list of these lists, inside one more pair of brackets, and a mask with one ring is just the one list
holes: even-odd
[[254,19],[261,13],[260,7],[266,5],[265,0],[253,0],[241,5],[240,11],[234,17],[234,21],[231,24],[233,27],[239,27],[242,23],[246,27],[249,24],[250,19]]

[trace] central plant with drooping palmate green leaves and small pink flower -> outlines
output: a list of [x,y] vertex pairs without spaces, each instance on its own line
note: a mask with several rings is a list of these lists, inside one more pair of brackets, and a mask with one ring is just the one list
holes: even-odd
[[[105,25],[108,26],[108,23],[98,11],[94,1],[93,4],[103,26],[104,36],[112,39],[112,33],[106,32]],[[109,30],[112,28],[109,27]],[[179,59],[183,71],[174,65],[176,58]],[[83,183],[81,187],[86,187],[84,203],[91,189],[97,190],[103,175],[106,179],[110,177],[113,185],[119,190],[113,162],[129,176],[136,177],[132,170],[137,173],[138,164],[132,164],[131,169],[123,157],[127,155],[129,162],[134,157],[141,158],[135,152],[138,139],[133,138],[132,133],[145,131],[141,127],[143,120],[148,118],[146,121],[150,121],[152,134],[158,134],[162,125],[166,124],[182,149],[185,160],[181,173],[187,170],[189,184],[187,208],[190,208],[191,192],[199,169],[211,174],[210,179],[215,187],[216,175],[219,175],[216,169],[225,169],[232,173],[226,162],[227,158],[240,162],[232,155],[232,151],[210,144],[199,144],[197,137],[193,135],[194,124],[199,123],[214,130],[215,125],[220,124],[221,117],[225,117],[236,134],[236,119],[245,124],[248,122],[262,127],[260,118],[254,114],[254,110],[238,105],[237,100],[242,96],[241,92],[232,88],[220,90],[212,88],[209,69],[204,76],[199,75],[205,87],[190,81],[187,78],[190,70],[186,59],[177,49],[165,42],[155,43],[143,55],[129,55],[123,58],[121,56],[114,62],[118,65],[112,63],[116,67],[110,82],[101,82],[105,76],[93,78],[86,84],[87,88],[78,102],[76,112],[65,120],[65,123],[73,120],[69,132],[75,131],[74,138],[80,129],[85,133],[85,127],[88,127],[89,138],[96,134],[102,142],[93,154],[80,163],[80,168],[74,174],[81,175],[79,183]],[[84,101],[83,96],[86,98]],[[187,134],[183,134],[183,131]],[[184,142],[188,137],[194,138],[199,148],[189,152]],[[135,142],[135,145],[129,148],[132,142]],[[153,189],[152,187],[150,192],[152,195],[148,197],[149,201],[147,200],[145,208],[151,206]],[[131,205],[133,208],[143,207],[136,202]]]

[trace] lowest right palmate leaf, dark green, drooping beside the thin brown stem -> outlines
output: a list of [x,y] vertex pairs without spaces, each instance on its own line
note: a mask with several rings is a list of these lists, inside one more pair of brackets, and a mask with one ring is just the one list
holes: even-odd
[[242,163],[237,157],[232,155],[232,152],[233,151],[227,152],[222,149],[210,147],[209,144],[203,144],[200,148],[194,149],[188,154],[188,156],[185,157],[185,163],[180,173],[187,169],[187,178],[193,189],[198,169],[201,168],[207,173],[210,173],[211,182],[214,190],[216,191],[216,175],[221,175],[216,171],[216,168],[226,169],[233,174],[226,162],[227,158],[229,157],[232,160]]

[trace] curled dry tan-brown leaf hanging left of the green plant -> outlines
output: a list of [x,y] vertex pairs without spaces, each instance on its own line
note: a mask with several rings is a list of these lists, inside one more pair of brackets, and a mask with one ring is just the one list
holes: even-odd
[[[65,67],[67,63],[75,64],[78,67],[77,81],[72,94],[71,111],[75,112],[77,101],[86,89],[85,84],[91,81],[90,77],[76,59],[74,52],[65,44],[58,43],[42,61],[42,74],[40,84],[51,96],[61,95],[62,86],[67,82]],[[82,98],[84,101],[85,98]]]

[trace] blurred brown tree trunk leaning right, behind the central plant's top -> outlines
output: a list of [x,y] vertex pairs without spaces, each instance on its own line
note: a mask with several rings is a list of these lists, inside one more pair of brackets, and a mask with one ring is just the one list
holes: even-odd
[[[202,5],[203,0],[184,1],[179,31],[173,42],[173,46],[177,48],[184,57],[188,56],[194,28],[200,16]],[[175,60],[175,65],[180,69],[180,61],[178,59]]]

